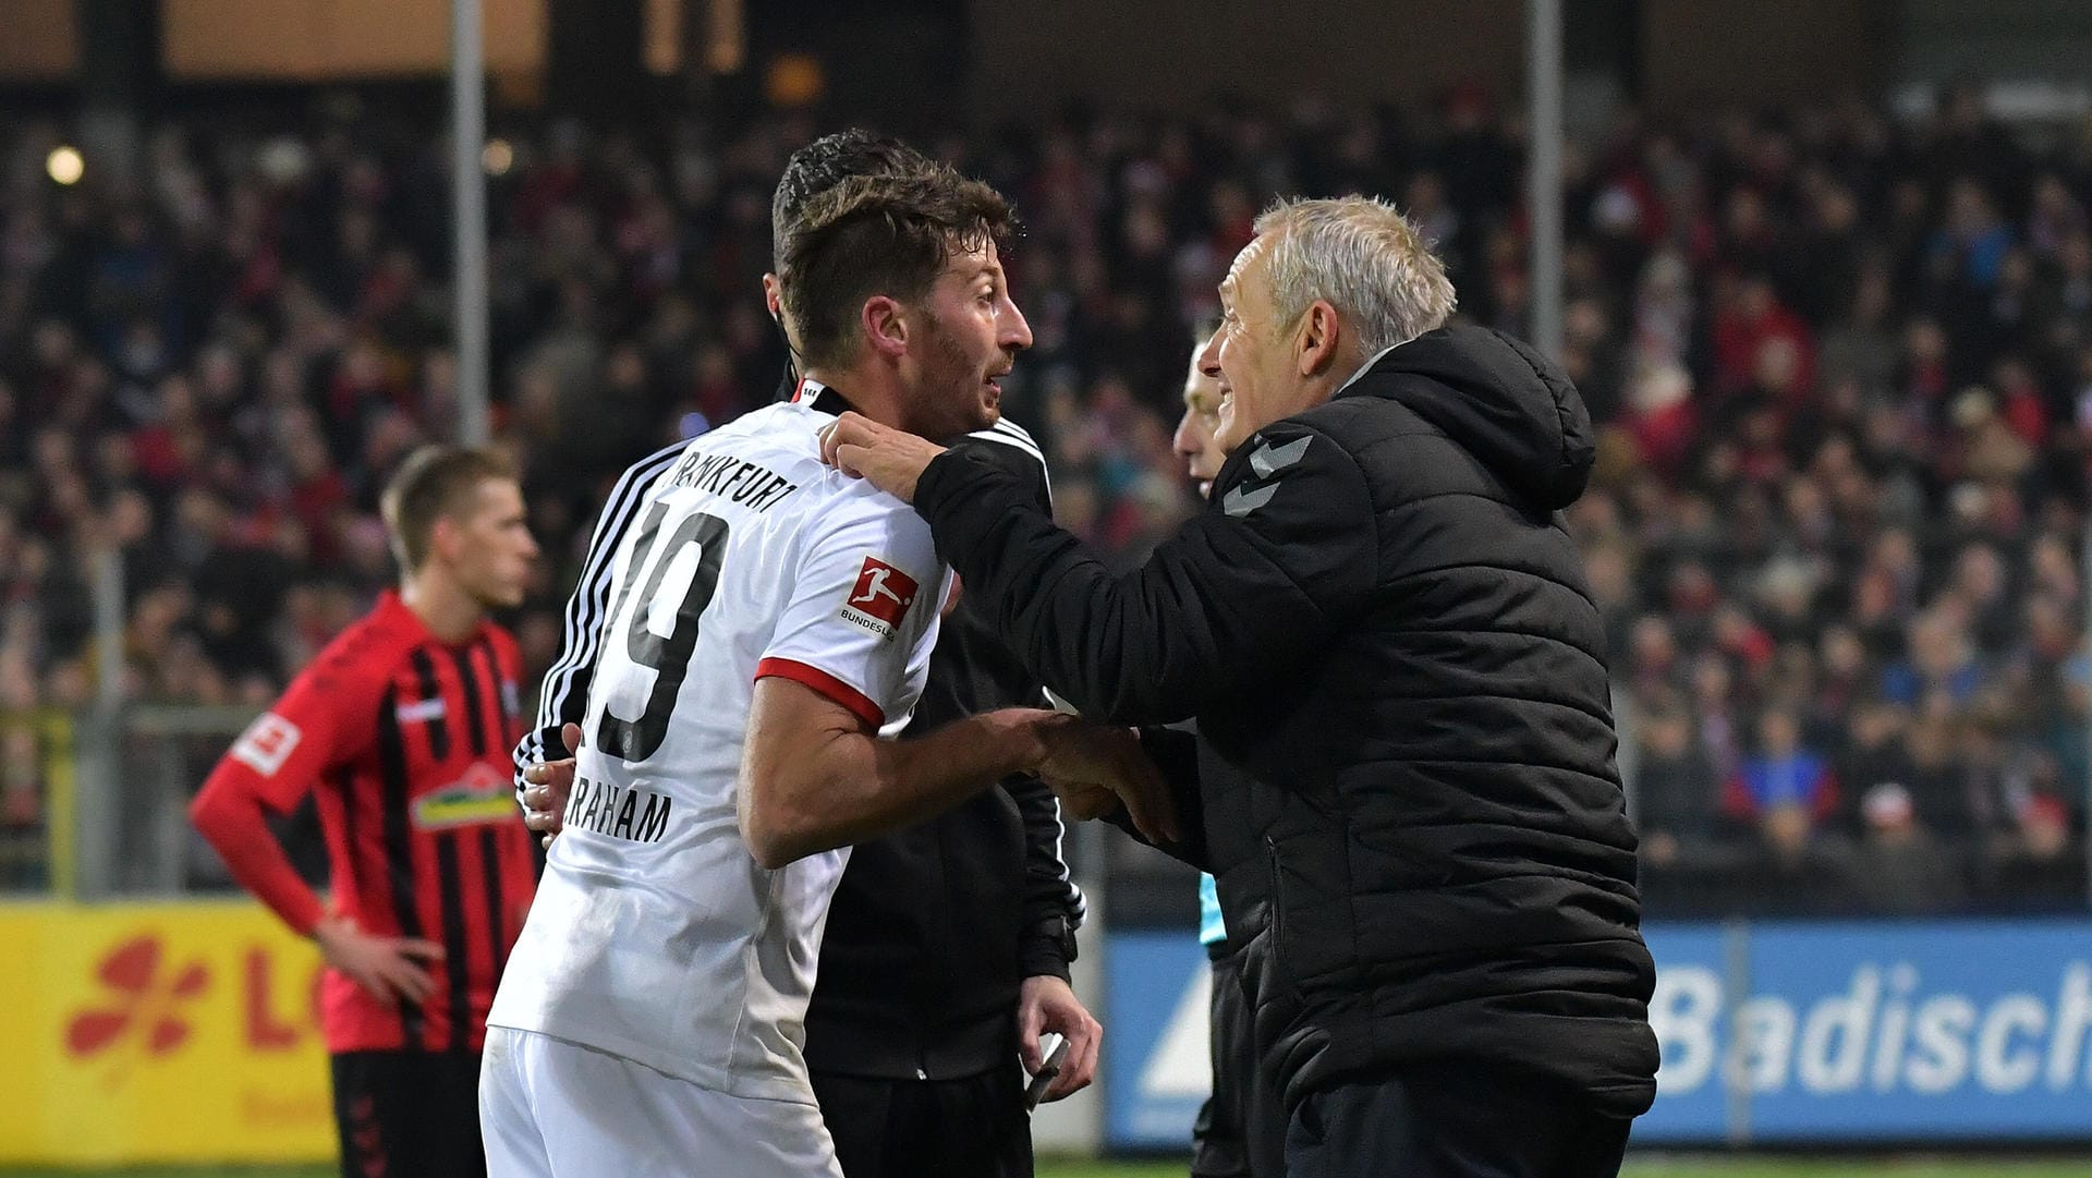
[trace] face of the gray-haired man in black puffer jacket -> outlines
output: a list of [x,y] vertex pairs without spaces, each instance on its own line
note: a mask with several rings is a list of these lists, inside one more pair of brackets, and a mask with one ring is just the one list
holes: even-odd
[[1291,366],[1297,324],[1276,322],[1270,262],[1261,236],[1234,255],[1234,266],[1220,280],[1220,331],[1199,356],[1199,368],[1220,381],[1213,441],[1224,454],[1295,412],[1301,402],[1301,379]]

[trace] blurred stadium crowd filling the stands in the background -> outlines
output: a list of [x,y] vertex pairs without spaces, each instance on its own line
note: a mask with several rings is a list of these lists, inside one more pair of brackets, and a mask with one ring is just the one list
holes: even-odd
[[[391,577],[377,490],[456,414],[444,144],[328,111],[161,126],[75,186],[61,128],[0,126],[0,829],[44,820],[31,720],[92,697],[94,552],[136,701],[259,707]],[[774,393],[768,199],[816,130],[490,144],[531,670],[609,479]],[[1529,331],[1519,128],[1471,86],[935,149],[1025,218],[1006,410],[1115,559],[1197,508],[1184,358],[1274,192],[1393,197],[1466,318]],[[2092,128],[2023,138],[1964,90],[1630,113],[1567,167],[1565,362],[1602,425],[1571,525],[1651,910],[2082,908]]]

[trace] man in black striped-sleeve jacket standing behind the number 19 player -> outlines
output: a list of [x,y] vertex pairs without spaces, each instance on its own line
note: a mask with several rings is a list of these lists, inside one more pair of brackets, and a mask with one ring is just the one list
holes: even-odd
[[[897,140],[824,136],[787,161],[772,228],[782,239],[810,197],[849,176],[914,167],[929,161]],[[776,276],[764,287],[770,314],[780,316]],[[795,381],[787,381],[782,393],[793,391]],[[996,423],[954,448],[1048,506],[1044,458],[1015,423]],[[634,465],[602,508],[567,609],[567,644],[546,674],[540,728],[517,747],[519,787],[525,772],[546,776],[531,766],[559,755],[563,724],[586,705],[630,504],[680,454],[682,444]],[[1040,703],[1038,678],[960,594],[931,653],[912,726]],[[538,785],[525,801],[533,826],[556,829],[563,797]],[[845,1178],[1029,1178],[1019,1057],[1036,1071],[1040,1034],[1067,1036],[1048,1101],[1096,1071],[1102,1029],[1069,988],[1082,914],[1082,893],[1061,862],[1059,801],[1038,778],[1010,778],[939,818],[851,849],[805,1013],[805,1061]]]

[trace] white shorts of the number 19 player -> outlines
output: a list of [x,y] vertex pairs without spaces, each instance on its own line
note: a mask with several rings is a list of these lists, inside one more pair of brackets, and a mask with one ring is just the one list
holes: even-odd
[[487,1027],[487,1178],[843,1178],[816,1105],[757,1101],[582,1044]]

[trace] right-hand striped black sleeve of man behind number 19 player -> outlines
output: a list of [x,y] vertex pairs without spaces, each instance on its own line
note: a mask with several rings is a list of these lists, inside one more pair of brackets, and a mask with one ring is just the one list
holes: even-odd
[[[1040,511],[1052,508],[1046,462],[1038,446],[1031,441],[1031,435],[1017,425],[1000,423],[994,429],[983,429],[981,433],[956,441],[954,448],[967,450],[983,465],[1006,473],[1025,488],[1027,500]],[[964,586],[960,586],[962,598],[964,592]],[[964,603],[962,609],[973,613]],[[948,619],[948,628],[954,621],[958,619]],[[990,634],[987,638],[996,640],[998,647],[1006,647],[1006,642],[1000,642],[1000,634]],[[987,690],[983,703],[1010,701],[1027,707],[1044,705],[1044,693],[1040,690],[1038,678],[1019,665],[1006,651],[998,653],[994,659],[985,657],[985,653],[977,653],[969,659],[969,674],[990,676],[996,680],[994,684],[983,684],[983,690]],[[1075,960],[1075,929],[1082,927],[1086,908],[1082,889],[1075,887],[1067,862],[1061,858],[1061,845],[1067,833],[1061,822],[1061,799],[1054,797],[1052,789],[1036,776],[1008,778],[1004,789],[1017,803],[1017,812],[1023,816],[1025,824],[1023,933],[1017,948],[1019,975],[1050,975],[1067,981],[1067,967]]]

